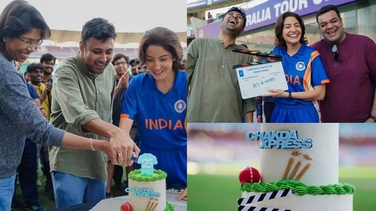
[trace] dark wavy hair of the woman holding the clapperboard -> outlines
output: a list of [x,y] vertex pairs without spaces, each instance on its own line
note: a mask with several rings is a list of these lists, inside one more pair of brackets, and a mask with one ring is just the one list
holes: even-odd
[[299,25],[301,27],[301,38],[300,38],[299,42],[308,44],[308,39],[305,38],[305,26],[304,26],[304,22],[303,22],[303,19],[301,18],[301,16],[299,16],[299,14],[296,14],[294,12],[284,12],[284,14],[281,14],[278,17],[277,22],[275,22],[275,30],[274,31],[275,31],[275,37],[277,38],[277,40],[279,42],[278,46],[280,48],[287,48],[286,40],[284,40],[284,36],[283,36],[283,31],[284,31],[284,22],[285,22],[286,18],[288,18],[288,17],[297,18]]

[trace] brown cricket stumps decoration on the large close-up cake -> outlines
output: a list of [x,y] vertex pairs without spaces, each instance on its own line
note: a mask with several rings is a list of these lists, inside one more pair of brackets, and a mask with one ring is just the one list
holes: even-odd
[[[292,152],[291,155],[292,156],[300,156],[301,155],[306,160],[312,160],[312,158],[309,154],[301,154],[301,152],[298,152],[298,151]],[[301,166],[301,160],[298,160],[298,162],[294,166],[294,169],[292,169],[292,172],[290,173],[290,170],[291,170],[291,167],[292,167],[293,164],[294,164],[294,158],[291,157],[288,160],[288,163],[287,163],[287,166],[286,166],[286,169],[285,169],[285,172],[284,172],[282,179],[299,181],[301,179],[301,177],[304,175],[305,171],[307,171],[311,167],[310,163],[305,164],[305,167],[303,169],[301,169],[301,171],[298,173],[297,177],[294,178],[294,176],[299,171],[299,167]],[[290,173],[290,176],[288,176],[288,173]]]

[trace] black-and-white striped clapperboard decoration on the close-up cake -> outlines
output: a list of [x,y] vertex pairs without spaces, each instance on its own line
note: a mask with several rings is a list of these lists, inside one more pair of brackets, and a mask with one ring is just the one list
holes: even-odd
[[250,197],[244,197],[238,199],[238,211],[292,211],[286,209],[279,209],[279,208],[262,208],[257,206],[251,206],[251,203],[256,203],[259,201],[267,201],[272,199],[277,199],[281,197],[287,197],[292,195],[292,191],[290,188],[280,190],[280,191],[272,191],[269,193],[260,193],[257,195],[253,195]]

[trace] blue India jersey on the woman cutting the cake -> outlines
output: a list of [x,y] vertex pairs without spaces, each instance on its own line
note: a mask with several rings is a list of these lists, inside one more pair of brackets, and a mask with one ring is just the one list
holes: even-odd
[[[163,94],[149,73],[129,82],[121,117],[137,119],[143,144],[172,149],[186,145],[187,74],[178,71],[170,92]],[[158,139],[158,140],[157,140]]]

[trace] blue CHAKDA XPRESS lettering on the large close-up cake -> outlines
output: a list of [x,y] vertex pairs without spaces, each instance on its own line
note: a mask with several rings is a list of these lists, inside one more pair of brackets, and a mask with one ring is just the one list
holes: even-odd
[[260,149],[310,149],[312,139],[299,139],[297,130],[290,131],[249,131],[248,141],[261,141]]

